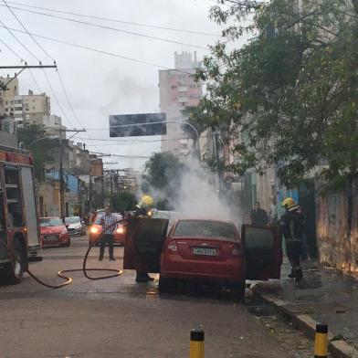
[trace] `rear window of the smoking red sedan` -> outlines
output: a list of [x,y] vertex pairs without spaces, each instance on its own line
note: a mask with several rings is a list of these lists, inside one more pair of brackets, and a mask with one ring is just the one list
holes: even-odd
[[237,239],[233,224],[209,220],[181,220],[176,226],[173,236]]

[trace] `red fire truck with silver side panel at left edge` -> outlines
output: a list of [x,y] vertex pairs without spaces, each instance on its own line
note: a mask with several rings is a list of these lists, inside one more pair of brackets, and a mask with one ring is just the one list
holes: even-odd
[[0,144],[0,279],[7,283],[20,282],[28,262],[38,260],[35,197],[33,157]]

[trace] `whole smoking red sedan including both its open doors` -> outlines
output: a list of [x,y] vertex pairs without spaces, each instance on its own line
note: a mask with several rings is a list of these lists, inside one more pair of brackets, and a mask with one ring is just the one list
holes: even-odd
[[133,217],[126,226],[123,269],[135,269],[137,252],[149,272],[160,273],[159,290],[178,282],[229,287],[243,300],[246,280],[279,279],[282,243],[275,226],[243,225],[225,220]]

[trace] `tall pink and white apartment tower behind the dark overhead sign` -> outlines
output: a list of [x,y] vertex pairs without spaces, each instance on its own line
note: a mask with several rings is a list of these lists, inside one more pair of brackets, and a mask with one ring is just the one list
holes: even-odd
[[[187,106],[197,106],[202,96],[202,86],[192,75],[199,66],[191,53],[174,53],[174,69],[159,71],[160,110],[166,113],[166,120],[185,121],[182,111]],[[162,136],[162,151],[177,156],[186,156],[192,150],[193,141],[180,124],[169,123],[167,134]]]

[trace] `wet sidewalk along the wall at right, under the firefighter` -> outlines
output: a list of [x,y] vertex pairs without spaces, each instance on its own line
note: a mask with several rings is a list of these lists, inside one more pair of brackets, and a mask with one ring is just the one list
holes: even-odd
[[305,261],[302,267],[304,279],[295,283],[287,277],[290,265],[285,260],[280,280],[254,283],[252,291],[296,321],[303,320],[297,325],[303,331],[306,329],[309,336],[314,333],[309,326],[327,323],[332,332],[330,338],[336,341],[333,346],[344,346],[348,352],[337,356],[358,356],[355,355],[358,354],[358,280],[332,269],[321,269],[316,261]]

